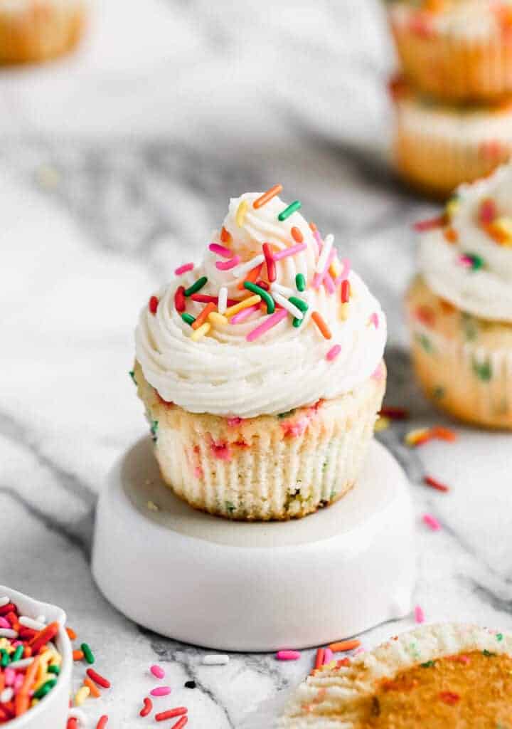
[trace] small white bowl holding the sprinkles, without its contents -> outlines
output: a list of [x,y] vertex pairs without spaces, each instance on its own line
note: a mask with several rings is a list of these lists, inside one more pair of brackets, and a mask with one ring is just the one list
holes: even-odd
[[60,607],[49,605],[46,602],[39,602],[5,585],[0,585],[0,596],[3,597],[4,595],[7,595],[15,603],[21,615],[34,618],[38,615],[44,615],[47,623],[55,623],[55,621],[60,623],[60,630],[55,639],[55,644],[62,656],[62,666],[60,667],[58,682],[50,693],[42,701],[39,701],[33,709],[28,709],[28,712],[3,726],[5,729],[66,729],[69,692],[71,689],[71,670],[73,667],[71,642],[65,630],[66,613]]

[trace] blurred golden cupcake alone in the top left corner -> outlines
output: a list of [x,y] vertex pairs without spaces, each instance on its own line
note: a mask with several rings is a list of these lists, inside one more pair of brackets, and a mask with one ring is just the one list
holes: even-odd
[[36,63],[68,52],[85,20],[85,0],[0,0],[0,63]]

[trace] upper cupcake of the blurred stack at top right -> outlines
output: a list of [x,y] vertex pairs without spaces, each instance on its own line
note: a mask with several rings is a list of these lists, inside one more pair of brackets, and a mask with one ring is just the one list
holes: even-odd
[[446,101],[494,101],[512,93],[510,0],[391,0],[403,71]]

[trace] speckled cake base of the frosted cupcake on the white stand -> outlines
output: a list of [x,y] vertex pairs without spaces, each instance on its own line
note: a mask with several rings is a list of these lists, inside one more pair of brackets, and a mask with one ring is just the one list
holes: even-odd
[[352,488],[385,390],[385,369],[353,392],[279,416],[221,418],[164,402],[134,371],[165,483],[192,507],[242,521],[299,518]]

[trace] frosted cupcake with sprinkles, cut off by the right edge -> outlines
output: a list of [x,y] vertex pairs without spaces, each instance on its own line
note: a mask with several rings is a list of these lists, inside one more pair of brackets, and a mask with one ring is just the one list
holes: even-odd
[[512,428],[512,165],[460,187],[418,224],[406,297],[412,359],[428,397],[470,423]]

